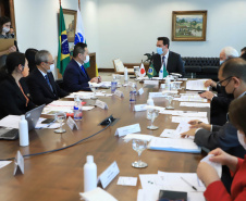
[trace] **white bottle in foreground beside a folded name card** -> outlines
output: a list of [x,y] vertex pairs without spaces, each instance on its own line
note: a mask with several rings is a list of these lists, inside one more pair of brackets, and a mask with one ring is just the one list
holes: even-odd
[[84,165],[84,191],[90,191],[97,188],[97,165],[94,163],[94,156],[87,155]]

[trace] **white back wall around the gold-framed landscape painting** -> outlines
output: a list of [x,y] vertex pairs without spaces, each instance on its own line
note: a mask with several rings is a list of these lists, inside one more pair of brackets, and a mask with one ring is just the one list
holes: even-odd
[[219,56],[225,46],[246,46],[245,0],[99,0],[99,67],[112,59],[136,63],[156,51],[158,36],[171,39],[172,11],[208,10],[207,41],[171,41],[183,56]]

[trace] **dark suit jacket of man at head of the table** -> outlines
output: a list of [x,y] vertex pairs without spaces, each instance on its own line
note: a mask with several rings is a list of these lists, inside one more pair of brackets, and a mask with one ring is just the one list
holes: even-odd
[[[159,71],[161,68],[161,62],[162,62],[160,54],[158,54],[158,53],[153,54],[152,61],[153,61],[153,67],[156,70],[157,74],[159,74]],[[180,54],[169,51],[167,70],[169,73],[180,73],[182,76],[184,76],[184,74],[185,74],[184,63],[183,63]]]

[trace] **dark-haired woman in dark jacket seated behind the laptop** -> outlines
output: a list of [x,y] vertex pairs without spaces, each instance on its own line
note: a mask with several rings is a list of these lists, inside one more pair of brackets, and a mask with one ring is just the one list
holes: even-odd
[[27,86],[23,81],[20,83],[20,79],[28,74],[28,62],[24,53],[12,52],[7,56],[5,65],[0,72],[0,118],[9,114],[25,114],[35,108]]

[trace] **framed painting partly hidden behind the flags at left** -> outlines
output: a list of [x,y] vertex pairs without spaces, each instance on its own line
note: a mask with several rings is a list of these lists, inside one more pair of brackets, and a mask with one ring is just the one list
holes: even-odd
[[77,11],[63,9],[63,15],[65,21],[67,40],[69,42],[74,42],[74,36],[76,32]]

